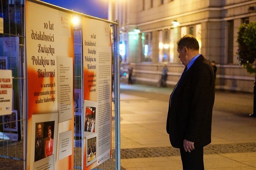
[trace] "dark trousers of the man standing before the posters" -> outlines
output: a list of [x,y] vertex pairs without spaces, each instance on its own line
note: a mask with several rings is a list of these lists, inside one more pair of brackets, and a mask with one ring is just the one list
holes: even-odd
[[203,147],[186,152],[180,149],[183,170],[204,170]]

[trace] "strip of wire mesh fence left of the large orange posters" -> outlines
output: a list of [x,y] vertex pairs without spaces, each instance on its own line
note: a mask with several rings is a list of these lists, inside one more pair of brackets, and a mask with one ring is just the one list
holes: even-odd
[[24,1],[1,0],[0,65],[12,70],[12,114],[0,116],[0,169],[23,169],[24,163]]

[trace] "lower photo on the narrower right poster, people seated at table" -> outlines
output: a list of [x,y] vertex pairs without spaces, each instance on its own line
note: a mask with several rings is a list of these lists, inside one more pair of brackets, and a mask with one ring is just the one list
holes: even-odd
[[88,135],[86,140],[86,166],[92,164],[97,160],[97,134]]

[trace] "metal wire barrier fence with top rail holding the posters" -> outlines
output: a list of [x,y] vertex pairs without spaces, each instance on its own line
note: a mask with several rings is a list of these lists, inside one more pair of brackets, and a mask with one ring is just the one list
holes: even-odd
[[[111,26],[112,52],[113,52],[113,96],[112,96],[112,158],[103,162],[94,169],[120,169],[120,89],[119,89],[119,25],[117,22],[111,22],[100,18],[77,13],[38,0],[30,0],[31,2],[45,5],[60,11],[68,12],[78,17],[86,17],[95,20],[101,20],[109,23]],[[24,60],[24,42],[25,42],[25,26],[24,26],[24,0],[1,0],[0,13],[0,69],[12,70],[13,76],[13,108],[11,115],[0,116],[0,169],[26,169],[26,89],[24,89],[24,81],[26,81],[26,61]],[[1,23],[3,20],[3,25]],[[1,26],[2,25],[2,26]],[[3,28],[3,32],[1,29]],[[74,27],[75,32],[81,30],[80,26]],[[81,34],[77,34],[80,38],[74,41],[74,50],[78,52],[75,59],[81,59],[80,65],[75,65],[75,91],[81,90],[83,94],[83,57],[82,57],[82,39]],[[18,45],[17,45],[18,44]],[[74,95],[76,96],[76,95]],[[83,103],[82,99],[80,101]],[[79,134],[83,129],[83,105],[75,108],[74,122],[74,169],[82,169],[83,164],[83,135]]]

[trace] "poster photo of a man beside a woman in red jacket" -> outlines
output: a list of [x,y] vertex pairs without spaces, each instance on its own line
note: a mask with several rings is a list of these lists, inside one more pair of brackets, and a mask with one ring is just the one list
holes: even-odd
[[44,161],[39,160],[56,155],[57,129],[58,113],[32,115],[31,158],[34,159],[30,163],[37,162],[40,166]]

